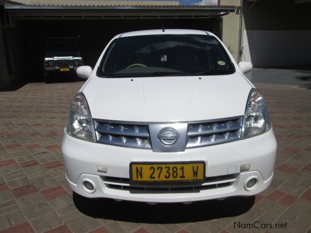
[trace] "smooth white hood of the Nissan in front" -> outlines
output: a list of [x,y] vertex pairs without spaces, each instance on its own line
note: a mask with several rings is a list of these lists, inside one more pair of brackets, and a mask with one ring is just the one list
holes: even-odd
[[93,118],[173,122],[241,116],[252,86],[219,76],[92,77],[83,89]]

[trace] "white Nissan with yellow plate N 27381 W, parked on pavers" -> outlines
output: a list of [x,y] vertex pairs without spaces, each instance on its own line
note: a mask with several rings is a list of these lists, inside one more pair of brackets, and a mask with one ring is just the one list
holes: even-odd
[[252,196],[272,181],[276,138],[260,92],[213,33],[115,36],[72,100],[62,153],[87,198],[184,202]]

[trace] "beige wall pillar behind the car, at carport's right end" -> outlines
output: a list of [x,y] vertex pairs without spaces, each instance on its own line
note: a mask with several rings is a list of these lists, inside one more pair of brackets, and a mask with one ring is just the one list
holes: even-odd
[[[241,0],[220,0],[220,5],[240,6],[240,2]],[[223,42],[236,61],[239,56],[239,26],[240,15],[235,12],[223,17]]]

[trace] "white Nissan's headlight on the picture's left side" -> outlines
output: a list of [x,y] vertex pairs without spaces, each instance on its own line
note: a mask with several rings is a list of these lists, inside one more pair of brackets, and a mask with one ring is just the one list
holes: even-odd
[[95,131],[86,97],[79,92],[72,100],[67,122],[67,133],[71,136],[95,142]]

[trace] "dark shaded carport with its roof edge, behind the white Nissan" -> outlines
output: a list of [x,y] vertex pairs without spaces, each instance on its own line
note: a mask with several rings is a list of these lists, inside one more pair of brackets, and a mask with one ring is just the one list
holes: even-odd
[[79,36],[84,65],[94,67],[106,44],[116,34],[162,29],[163,22],[165,29],[197,29],[221,37],[221,16],[235,10],[232,6],[175,6],[173,11],[164,8],[97,7],[93,11],[93,8],[73,6],[6,6],[6,13],[14,17],[14,26],[5,29],[5,36],[16,82],[43,82],[47,37]]

